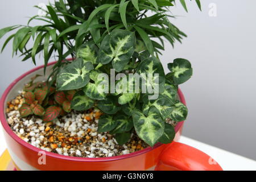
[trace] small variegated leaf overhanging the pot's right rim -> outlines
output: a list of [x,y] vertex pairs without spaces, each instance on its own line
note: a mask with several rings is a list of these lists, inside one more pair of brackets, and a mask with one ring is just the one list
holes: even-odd
[[170,118],[172,121],[184,121],[187,118],[188,115],[188,109],[187,107],[182,104],[180,101],[177,101],[177,103],[172,107],[172,112],[170,115]]

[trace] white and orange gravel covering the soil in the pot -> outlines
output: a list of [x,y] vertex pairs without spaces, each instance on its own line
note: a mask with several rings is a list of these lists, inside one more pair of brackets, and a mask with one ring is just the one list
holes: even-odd
[[123,146],[118,145],[113,135],[97,133],[100,110],[72,111],[53,122],[44,123],[35,115],[21,118],[18,108],[22,102],[20,93],[7,103],[7,122],[18,137],[42,150],[66,156],[100,158],[130,154],[148,147],[135,133]]

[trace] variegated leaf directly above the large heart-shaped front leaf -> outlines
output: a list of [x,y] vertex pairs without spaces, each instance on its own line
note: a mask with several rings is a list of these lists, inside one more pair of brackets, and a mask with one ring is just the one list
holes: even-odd
[[172,107],[173,105],[174,102],[167,100],[166,97],[163,97],[162,95],[159,95],[157,100],[148,100],[147,103],[143,105],[143,113],[147,115],[150,107],[155,106],[163,119],[170,118],[171,112],[174,109]]

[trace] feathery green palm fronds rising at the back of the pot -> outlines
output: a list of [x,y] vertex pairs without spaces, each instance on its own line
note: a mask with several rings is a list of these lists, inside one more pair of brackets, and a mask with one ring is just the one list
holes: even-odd
[[[187,10],[185,1],[180,2]],[[61,60],[76,57],[76,49],[82,43],[94,40],[99,45],[110,31],[126,28],[136,32],[138,48],[144,44],[152,55],[157,55],[159,50],[164,50],[164,39],[173,45],[176,40],[180,42],[186,36],[168,20],[170,15],[166,15],[168,7],[174,3],[174,0],[55,1],[47,6],[45,16],[33,16],[26,26],[11,26],[0,30],[2,38],[7,32],[18,28],[6,39],[2,51],[13,40],[13,55],[20,53],[22,61],[32,58],[36,64],[35,56],[43,53],[45,65],[57,53],[59,61],[55,70],[58,71],[65,64]],[[196,0],[196,3],[200,7],[200,1]],[[149,11],[154,14],[147,16]],[[32,20],[40,20],[45,24],[32,27]],[[160,43],[154,38],[159,39]],[[31,48],[27,48],[29,41],[33,42]]]

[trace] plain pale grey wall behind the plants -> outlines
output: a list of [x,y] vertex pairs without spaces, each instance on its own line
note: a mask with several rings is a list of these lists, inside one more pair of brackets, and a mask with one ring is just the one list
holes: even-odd
[[[0,28],[26,24],[37,14],[33,5],[47,0],[0,1]],[[175,48],[166,47],[164,67],[177,57],[189,59],[193,77],[181,85],[189,107],[184,135],[256,159],[256,1],[203,0],[203,12],[188,2],[189,13],[179,3],[172,19],[188,38]],[[209,4],[216,3],[217,17]],[[6,36],[5,36],[6,38]],[[3,39],[0,40],[0,45]],[[0,94],[16,77],[34,68],[31,60],[11,57],[11,46],[0,55]],[[38,65],[42,64],[38,58]],[[166,69],[167,71],[167,69]]]

